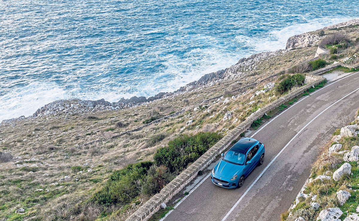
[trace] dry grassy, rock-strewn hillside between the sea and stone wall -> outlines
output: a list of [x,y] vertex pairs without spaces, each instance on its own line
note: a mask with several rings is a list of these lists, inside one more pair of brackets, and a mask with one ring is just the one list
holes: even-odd
[[[220,139],[253,112],[294,90],[281,92],[278,85],[288,76],[312,71],[312,64],[303,64],[314,58],[324,39],[344,36],[336,45],[323,45],[336,51],[320,56],[327,65],[358,63],[359,27],[354,24],[296,35],[288,40],[287,49],[243,58],[176,92],[112,104],[60,100],[31,117],[4,120],[0,125],[0,220],[95,220],[113,211],[118,220],[124,220],[131,207],[150,195],[128,197],[131,200],[125,205],[91,200],[113,172],[152,161],[159,148],[184,135],[204,132]],[[171,171],[171,176],[176,172]],[[141,185],[134,184],[137,192]],[[24,211],[17,211],[20,208]]]

